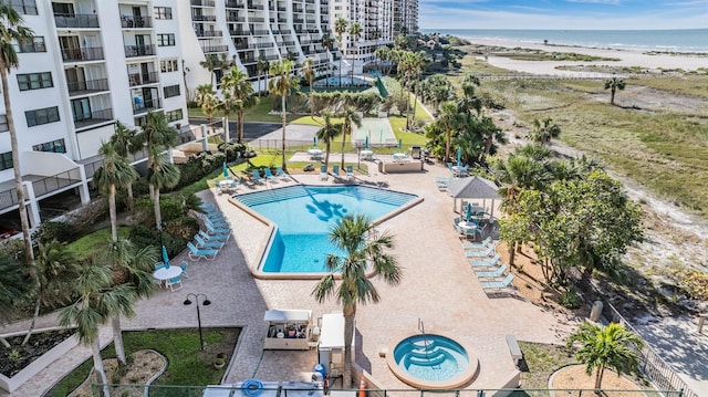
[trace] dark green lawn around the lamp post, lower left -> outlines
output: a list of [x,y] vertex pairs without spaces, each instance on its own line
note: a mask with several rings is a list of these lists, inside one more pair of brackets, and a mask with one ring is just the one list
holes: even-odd
[[[157,351],[167,358],[167,370],[154,385],[206,386],[218,385],[226,367],[217,369],[212,366],[217,354],[227,355],[227,362],[233,353],[240,328],[204,328],[205,349],[199,349],[197,330],[153,330],[124,332],[126,354],[145,348]],[[101,353],[103,358],[115,357],[113,344]],[[87,359],[69,373],[52,388],[48,396],[66,396],[88,376],[93,362]],[[150,389],[150,396],[174,396],[175,389]]]

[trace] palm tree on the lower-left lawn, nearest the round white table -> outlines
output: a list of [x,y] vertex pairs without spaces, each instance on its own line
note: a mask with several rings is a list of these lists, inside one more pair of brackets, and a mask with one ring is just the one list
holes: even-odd
[[155,291],[153,271],[159,254],[154,245],[138,249],[126,239],[111,241],[108,249],[104,252],[101,262],[112,271],[112,288],[126,289],[126,291],[133,292],[125,295],[127,302],[124,302],[121,306],[122,310],[111,315],[115,355],[118,359],[118,365],[125,366],[121,315],[126,317],[135,315],[133,311],[135,302],[140,297],[149,297]]

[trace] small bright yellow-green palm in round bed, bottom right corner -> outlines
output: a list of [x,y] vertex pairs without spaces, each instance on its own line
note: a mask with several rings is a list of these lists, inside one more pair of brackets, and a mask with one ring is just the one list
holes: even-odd
[[583,323],[566,341],[570,348],[575,342],[582,347],[575,353],[575,358],[585,363],[585,373],[595,372],[595,390],[602,388],[602,377],[606,367],[611,367],[618,375],[636,372],[639,364],[638,352],[644,347],[639,335],[627,331],[624,325],[610,323],[600,326]]

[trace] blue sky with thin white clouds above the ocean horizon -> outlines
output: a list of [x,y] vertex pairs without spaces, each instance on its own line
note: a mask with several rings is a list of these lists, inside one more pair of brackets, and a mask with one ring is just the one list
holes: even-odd
[[706,29],[708,0],[418,0],[420,29]]

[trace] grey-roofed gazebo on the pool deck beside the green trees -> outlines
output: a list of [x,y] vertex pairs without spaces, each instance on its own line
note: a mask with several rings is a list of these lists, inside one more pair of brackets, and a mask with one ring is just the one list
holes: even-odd
[[[467,178],[452,179],[447,185],[450,196],[455,198],[452,210],[462,213],[462,200],[470,201],[472,206],[482,207],[490,218],[494,217],[494,209],[499,207],[501,196],[494,182],[482,177],[473,176]],[[459,206],[458,200],[460,199]],[[488,202],[489,201],[489,202]],[[459,210],[458,210],[459,209]]]

